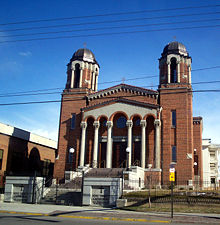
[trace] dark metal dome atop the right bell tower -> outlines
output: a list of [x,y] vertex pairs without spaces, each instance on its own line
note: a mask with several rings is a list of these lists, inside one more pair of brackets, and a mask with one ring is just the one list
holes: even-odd
[[189,55],[186,51],[186,47],[182,43],[177,41],[170,42],[168,45],[165,46],[165,48],[163,49],[162,56],[168,54],[179,54],[184,56]]

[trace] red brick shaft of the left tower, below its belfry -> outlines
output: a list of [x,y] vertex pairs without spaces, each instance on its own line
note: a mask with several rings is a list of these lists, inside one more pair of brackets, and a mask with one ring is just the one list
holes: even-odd
[[[81,137],[81,111],[86,106],[85,96],[89,93],[87,89],[76,88],[64,90],[61,101],[58,159],[55,162],[54,177],[63,179],[65,170],[77,168],[79,165],[79,149]],[[71,129],[72,114],[76,114],[75,128]],[[69,149],[74,148],[73,162],[68,162]]]

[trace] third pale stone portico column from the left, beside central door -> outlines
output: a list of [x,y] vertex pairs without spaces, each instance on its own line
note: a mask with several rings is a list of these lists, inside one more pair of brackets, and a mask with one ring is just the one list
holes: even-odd
[[107,150],[106,150],[106,168],[112,168],[112,127],[113,122],[107,121],[106,123],[108,134],[107,134]]

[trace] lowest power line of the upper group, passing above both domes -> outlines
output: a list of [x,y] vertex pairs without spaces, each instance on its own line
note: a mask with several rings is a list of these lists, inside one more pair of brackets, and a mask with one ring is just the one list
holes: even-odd
[[123,31],[123,32],[110,32],[110,33],[97,33],[97,34],[83,34],[83,35],[71,35],[71,36],[58,36],[58,37],[44,37],[44,38],[32,38],[32,39],[21,39],[21,40],[8,40],[0,41],[2,43],[13,43],[13,42],[29,42],[29,41],[42,41],[42,40],[57,40],[57,39],[69,39],[69,38],[79,38],[79,37],[100,37],[109,35],[119,35],[119,34],[136,34],[136,33],[148,33],[157,31],[171,31],[171,30],[188,30],[188,29],[201,29],[201,28],[218,28],[218,25],[206,25],[206,26],[194,26],[194,27],[177,27],[177,28],[163,28],[155,30],[139,30],[139,31]]

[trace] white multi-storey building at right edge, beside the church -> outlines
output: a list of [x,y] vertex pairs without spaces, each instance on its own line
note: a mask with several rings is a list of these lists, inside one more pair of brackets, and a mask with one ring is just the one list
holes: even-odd
[[220,145],[212,144],[211,139],[202,140],[203,186],[219,185]]

